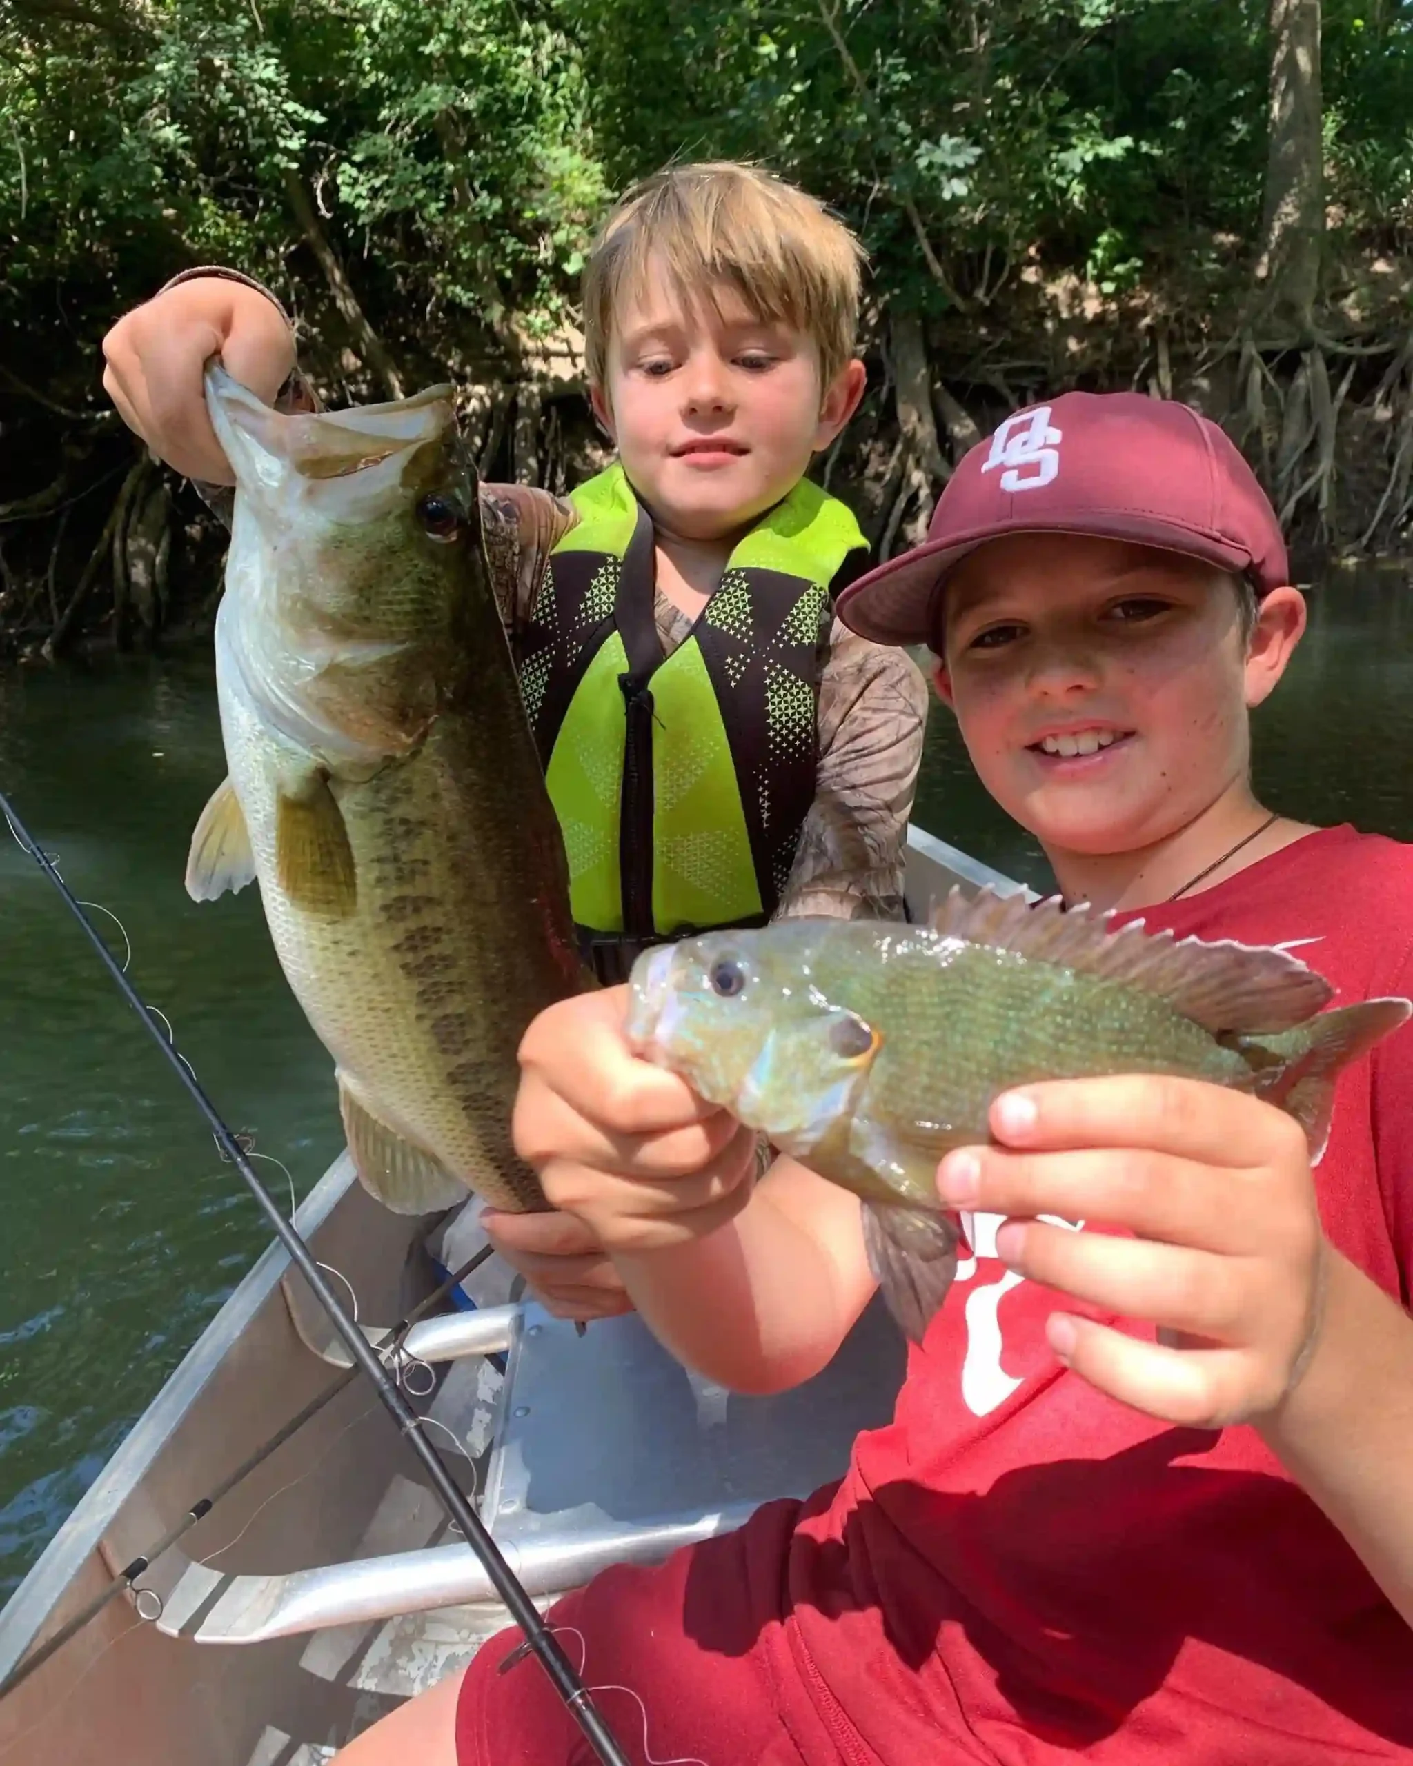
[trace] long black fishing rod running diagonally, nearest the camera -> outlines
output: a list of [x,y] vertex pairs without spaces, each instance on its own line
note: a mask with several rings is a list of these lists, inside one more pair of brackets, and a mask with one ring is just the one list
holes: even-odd
[[0,791],[0,811],[4,811],[5,819],[14,830],[16,841],[23,849],[34,858],[44,876],[53,883],[64,899],[64,904],[74,915],[78,924],[83,927],[88,943],[97,952],[99,961],[108,970],[115,987],[124,996],[124,1000],[132,1007],[138,1017],[143,1021],[152,1040],[162,1051],[162,1060],[177,1074],[178,1081],[185,1088],[191,1100],[196,1104],[198,1111],[207,1121],[215,1144],[221,1148],[224,1157],[240,1173],[246,1189],[254,1197],[256,1206],[270,1222],[276,1238],[281,1241],[284,1250],[290,1254],[290,1261],[300,1272],[304,1280],[309,1284],[314,1298],[320,1302],[323,1310],[329,1314],[329,1321],[334,1330],[343,1339],[343,1346],[348,1349],[353,1363],[362,1369],[362,1372],[373,1381],[383,1408],[389,1411],[392,1420],[397,1423],[399,1432],[404,1436],[408,1446],[422,1462],[422,1469],[431,1480],[433,1491],[447,1510],[447,1515],[461,1528],[466,1536],[466,1543],[472,1547],[475,1556],[480,1559],[486,1575],[491,1579],[491,1586],[500,1595],[505,1604],[507,1612],[514,1623],[525,1634],[525,1642],[533,1651],[537,1662],[549,1676],[549,1683],[567,1706],[570,1717],[579,1725],[588,1745],[593,1748],[593,1755],[602,1766],[629,1766],[629,1757],[618,1747],[613,1731],[608,1727],[604,1718],[599,1715],[599,1708],[593,1704],[590,1688],[583,1683],[583,1678],[570,1667],[569,1657],[560,1648],[555,1632],[544,1623],[539,1609],[525,1589],[516,1572],[505,1561],[503,1552],[491,1538],[480,1515],[472,1508],[463,1494],[461,1487],[456,1483],[452,1475],[436,1457],[431,1443],[422,1434],[422,1418],[408,1404],[397,1388],[396,1379],[389,1374],[383,1363],[378,1360],[376,1349],[364,1337],[362,1330],[353,1323],[353,1319],[344,1312],[343,1302],[329,1286],[314,1261],[314,1254],[304,1243],[295,1227],[284,1219],[276,1199],[265,1189],[261,1180],[256,1176],[254,1167],[246,1157],[246,1150],[240,1146],[237,1137],[226,1127],[224,1120],[217,1113],[212,1100],[207,1097],[196,1074],[187,1067],[182,1056],[177,1053],[175,1044],[164,1035],[159,1021],[150,1007],[147,1007],[138,994],[132,982],[124,975],[113,952],[99,936],[94,922],[83,911],[81,902],[64,881],[64,878],[55,869],[49,855],[37,844],[30,830],[19,819],[18,811],[9,802],[4,791]]

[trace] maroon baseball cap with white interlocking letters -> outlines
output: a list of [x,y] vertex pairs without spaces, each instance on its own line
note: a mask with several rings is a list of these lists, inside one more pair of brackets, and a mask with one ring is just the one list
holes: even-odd
[[1286,542],[1256,473],[1210,419],[1141,392],[1065,392],[970,449],[927,539],[860,576],[839,618],[881,645],[922,645],[947,572],[1003,533],[1092,533],[1289,581]]

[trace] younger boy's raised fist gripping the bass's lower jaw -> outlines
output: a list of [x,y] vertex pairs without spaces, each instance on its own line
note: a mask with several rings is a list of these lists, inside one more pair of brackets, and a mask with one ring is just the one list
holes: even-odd
[[187,479],[233,484],[207,417],[201,373],[226,373],[272,404],[295,366],[284,316],[244,283],[198,275],[125,313],[102,339],[102,387],[129,429]]

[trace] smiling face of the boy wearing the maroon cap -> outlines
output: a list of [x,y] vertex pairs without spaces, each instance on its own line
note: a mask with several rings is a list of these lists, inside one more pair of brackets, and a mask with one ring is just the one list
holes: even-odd
[[1247,639],[1238,585],[1199,560],[1014,533],[947,579],[938,685],[982,782],[1053,860],[1139,853],[1245,791],[1247,712],[1284,668],[1291,599],[1268,595]]

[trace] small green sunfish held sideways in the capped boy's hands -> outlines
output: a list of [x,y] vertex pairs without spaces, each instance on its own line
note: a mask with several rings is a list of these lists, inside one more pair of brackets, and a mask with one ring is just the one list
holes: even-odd
[[1288,1111],[1318,1160],[1339,1070],[1413,1012],[1408,1000],[1323,1012],[1328,982],[1286,952],[1106,922],[957,890],[931,927],[712,932],[638,959],[629,1037],[864,1199],[869,1261],[920,1340],[959,1241],[938,1160],[989,1139],[1001,1091],[1104,1074],[1206,1079]]

